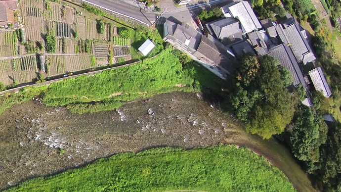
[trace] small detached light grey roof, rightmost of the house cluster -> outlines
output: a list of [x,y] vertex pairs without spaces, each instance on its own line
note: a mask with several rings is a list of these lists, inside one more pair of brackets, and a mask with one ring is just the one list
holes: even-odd
[[322,92],[325,97],[329,97],[332,95],[332,92],[328,86],[326,77],[324,76],[321,67],[313,69],[309,71],[308,73],[317,91]]

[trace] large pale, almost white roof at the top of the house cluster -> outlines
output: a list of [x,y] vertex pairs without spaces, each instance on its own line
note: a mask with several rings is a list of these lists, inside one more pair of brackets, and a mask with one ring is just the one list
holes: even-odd
[[231,16],[237,18],[244,33],[249,33],[255,29],[260,29],[261,25],[252,10],[248,1],[233,2],[222,7],[225,13],[230,12]]

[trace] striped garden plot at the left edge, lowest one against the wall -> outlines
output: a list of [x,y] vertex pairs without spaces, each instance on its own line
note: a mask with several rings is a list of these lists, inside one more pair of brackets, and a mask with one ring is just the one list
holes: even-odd
[[35,56],[24,56],[15,59],[0,60],[0,81],[4,85],[32,82],[37,77]]

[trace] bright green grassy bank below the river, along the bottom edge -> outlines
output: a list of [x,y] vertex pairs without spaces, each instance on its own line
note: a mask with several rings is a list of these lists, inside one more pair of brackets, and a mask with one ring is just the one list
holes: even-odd
[[295,192],[284,174],[248,149],[229,145],[153,148],[122,153],[86,167],[27,181],[11,192]]

